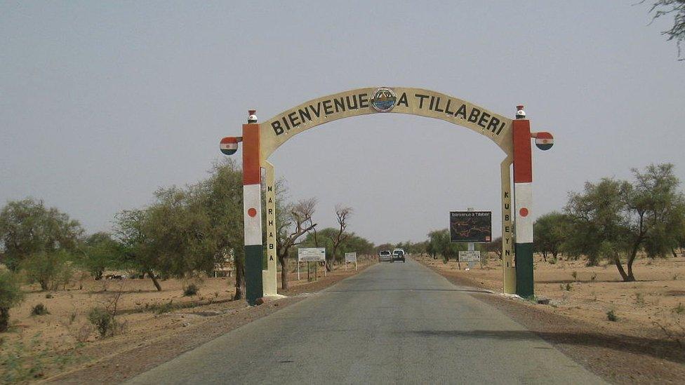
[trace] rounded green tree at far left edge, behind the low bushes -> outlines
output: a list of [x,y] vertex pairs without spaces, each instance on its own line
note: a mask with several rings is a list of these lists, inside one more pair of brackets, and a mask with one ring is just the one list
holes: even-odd
[[31,255],[74,250],[81,234],[78,221],[33,198],[10,201],[0,211],[2,262],[12,271]]

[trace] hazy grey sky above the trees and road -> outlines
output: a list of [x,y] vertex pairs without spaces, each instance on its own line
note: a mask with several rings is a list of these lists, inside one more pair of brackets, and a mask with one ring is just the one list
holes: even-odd
[[[630,168],[685,180],[685,62],[627,1],[0,1],[0,202],[42,198],[107,230],[158,187],[206,177],[248,109],[265,121],[343,90],[428,88],[512,116],[555,144],[533,152],[534,210]],[[649,1],[648,1],[649,3]],[[239,158],[240,153],[237,154]],[[270,158],[316,221],[354,208],[375,243],[421,241],[448,211],[493,211],[490,140],[404,114],[342,119]]]

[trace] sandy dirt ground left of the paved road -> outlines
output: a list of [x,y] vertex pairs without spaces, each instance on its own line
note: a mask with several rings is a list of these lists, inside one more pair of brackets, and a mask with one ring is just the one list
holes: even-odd
[[[360,260],[359,271],[373,263],[375,259]],[[290,288],[280,294],[314,292],[356,273],[353,266],[347,271],[337,266],[324,277],[319,267],[318,281],[308,282],[305,264],[301,269],[302,279],[291,273]],[[278,278],[280,287],[280,273]],[[189,283],[199,285],[199,292],[185,297],[183,288]],[[246,306],[244,301],[232,301],[234,278],[169,279],[161,281],[161,287],[158,292],[149,279],[87,279],[48,292],[27,286],[24,302],[11,309],[10,330],[0,334],[0,383],[50,379],[60,372],[69,373],[60,376],[60,382],[122,381],[301,299]],[[102,339],[86,314],[93,306],[113,309],[115,302],[117,330]],[[49,313],[32,316],[36,304],[44,304]],[[165,348],[170,338],[175,341],[167,341]],[[109,365],[110,361],[117,363]],[[124,370],[126,365],[130,367]]]

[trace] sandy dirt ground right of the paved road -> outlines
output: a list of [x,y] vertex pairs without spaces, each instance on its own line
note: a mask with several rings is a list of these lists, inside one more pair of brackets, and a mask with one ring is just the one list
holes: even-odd
[[[465,271],[457,262],[418,257],[454,283],[502,291],[498,260]],[[613,264],[536,255],[536,304],[474,294],[551,342],[579,363],[618,384],[672,383],[685,378],[685,258],[639,259],[637,282],[624,283]],[[575,274],[574,274],[575,273]],[[574,276],[575,275],[575,276]],[[615,321],[608,320],[613,312]]]

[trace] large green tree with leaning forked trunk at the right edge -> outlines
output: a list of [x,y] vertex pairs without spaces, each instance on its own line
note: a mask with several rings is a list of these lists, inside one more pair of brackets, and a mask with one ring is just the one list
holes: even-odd
[[632,172],[633,184],[611,178],[587,182],[585,191],[570,194],[566,205],[573,219],[568,250],[587,255],[591,265],[599,257],[611,259],[623,281],[635,281],[632,265],[640,250],[649,257],[667,255],[685,226],[685,198],[677,191],[673,165]]

